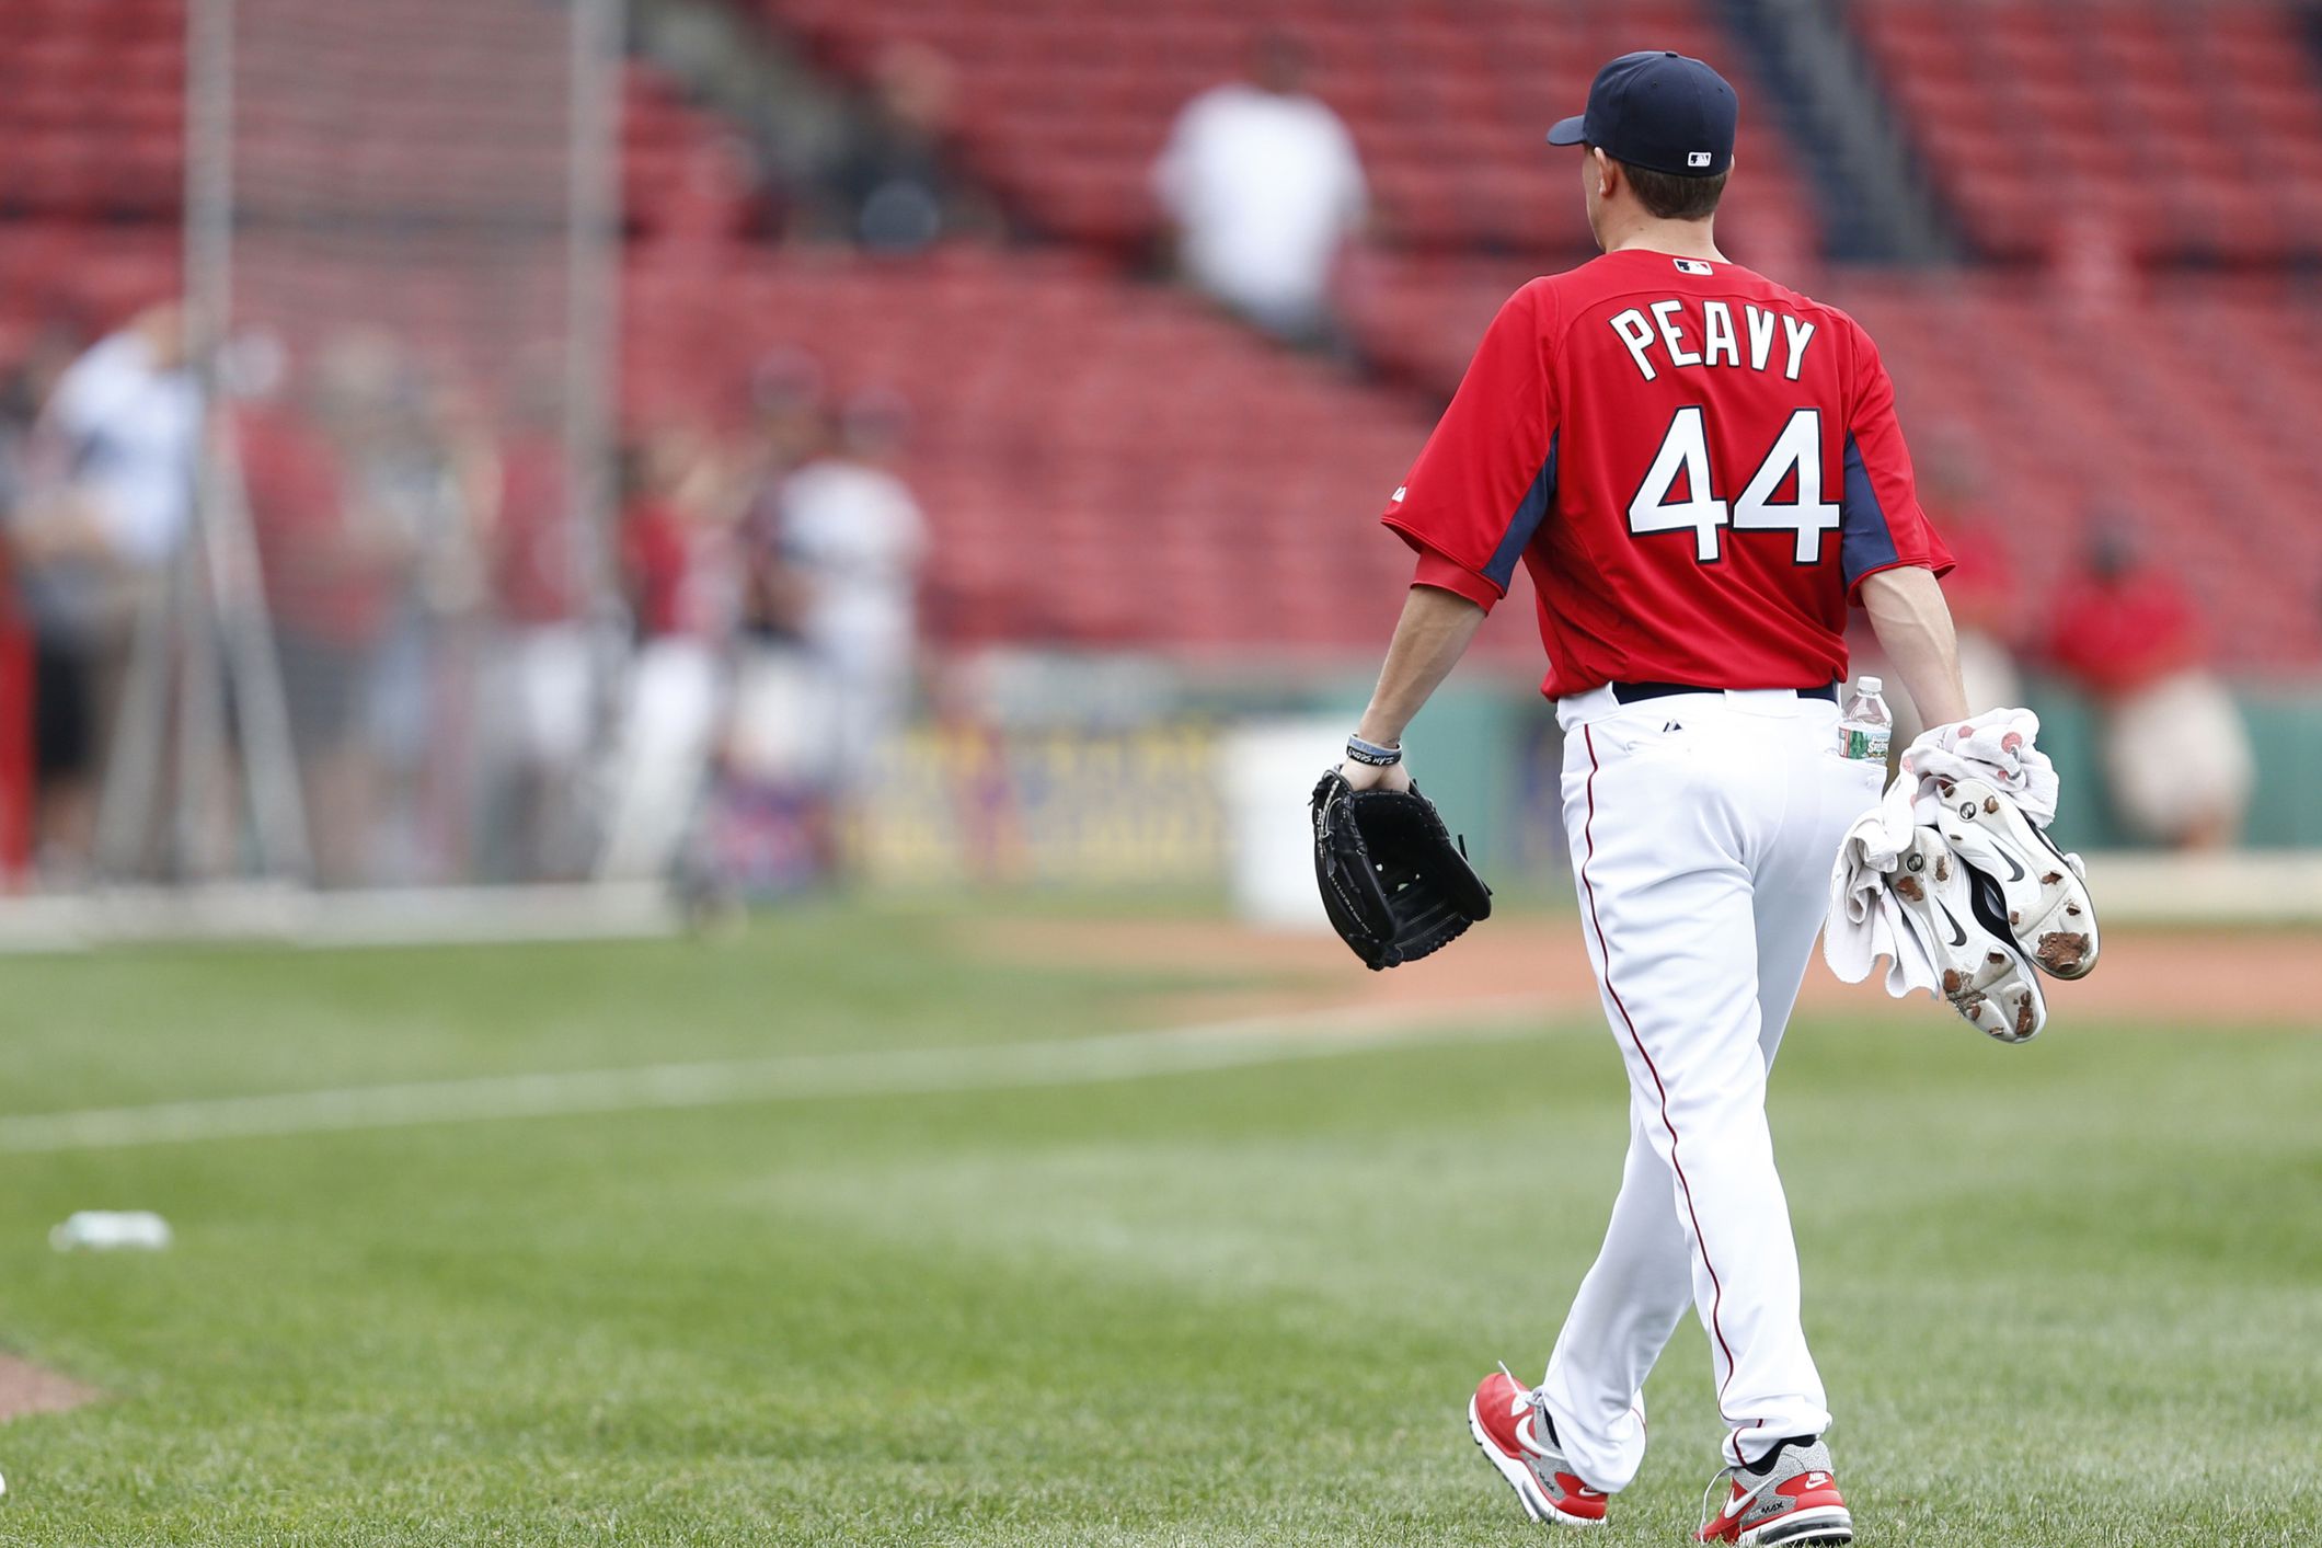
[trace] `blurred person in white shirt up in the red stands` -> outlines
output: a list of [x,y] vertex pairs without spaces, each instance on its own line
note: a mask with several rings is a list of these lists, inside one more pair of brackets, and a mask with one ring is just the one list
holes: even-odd
[[1307,63],[1298,39],[1261,35],[1247,81],[1184,104],[1152,176],[1196,285],[1279,339],[1328,343],[1333,267],[1368,190],[1354,135],[1305,91]]

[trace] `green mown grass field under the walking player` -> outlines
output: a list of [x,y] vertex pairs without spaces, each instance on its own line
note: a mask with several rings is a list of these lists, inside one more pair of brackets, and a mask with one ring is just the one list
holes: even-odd
[[[1537,1376],[1602,1228],[1593,1023],[1024,1084],[975,1049],[1154,1026],[1194,979],[978,965],[954,919],[848,910],[5,975],[7,1114],[824,1054],[964,1088],[77,1149],[0,1119],[0,1341],[107,1393],[0,1427],[0,1541],[1544,1532],[1465,1397],[1495,1358]],[[2322,1037],[1813,1021],[1774,1105],[1860,1541],[2315,1541]],[[79,1207],[179,1244],[51,1253]],[[1697,1520],[1690,1323],[1651,1399],[1591,1541]]]

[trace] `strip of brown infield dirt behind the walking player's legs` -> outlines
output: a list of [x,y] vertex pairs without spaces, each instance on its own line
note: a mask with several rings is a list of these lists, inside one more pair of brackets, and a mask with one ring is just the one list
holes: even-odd
[[[1205,963],[1221,972],[1279,975],[1279,984],[1189,993],[1173,1014],[1242,1017],[1328,1005],[1454,1005],[1537,996],[1544,1014],[1593,1014],[1595,977],[1570,914],[1516,914],[1477,926],[1447,952],[1393,972],[1365,972],[1335,935],[1252,931],[1203,919],[996,919],[975,942],[1019,961],[1112,965]],[[2078,984],[2046,984],[2048,1014],[2069,1023],[2187,1021],[2322,1030],[2322,933],[2108,931],[2104,965]],[[1807,1010],[1860,1017],[1925,1014],[1874,984],[1841,984],[1816,961]]]

